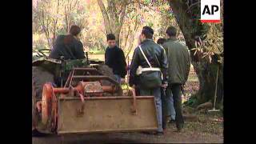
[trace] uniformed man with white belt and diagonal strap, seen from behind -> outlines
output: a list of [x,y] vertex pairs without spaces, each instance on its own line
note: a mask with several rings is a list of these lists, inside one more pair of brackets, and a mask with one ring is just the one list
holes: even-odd
[[[158,114],[158,130],[163,134],[161,86],[167,86],[166,51],[153,41],[154,30],[144,26],[140,35],[140,45],[134,50],[130,66],[130,86],[138,85],[141,95],[154,95]],[[138,76],[138,81],[135,80]]]

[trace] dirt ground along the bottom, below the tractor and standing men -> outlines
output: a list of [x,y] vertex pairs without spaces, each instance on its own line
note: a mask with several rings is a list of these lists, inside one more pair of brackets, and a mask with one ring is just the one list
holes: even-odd
[[80,144],[80,143],[222,143],[223,119],[220,114],[200,111],[196,122],[185,122],[181,133],[170,123],[165,135],[136,133],[70,134],[32,138],[33,144]]

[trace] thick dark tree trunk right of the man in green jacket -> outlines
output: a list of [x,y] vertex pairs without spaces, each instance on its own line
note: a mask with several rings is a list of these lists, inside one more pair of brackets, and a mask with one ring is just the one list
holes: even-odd
[[[178,26],[182,30],[182,34],[186,40],[186,46],[190,49],[190,56],[194,70],[198,75],[199,80],[199,90],[196,94],[198,99],[198,104],[203,102],[213,102],[214,100],[214,90],[215,82],[217,76],[218,64],[217,62],[207,62],[206,58],[202,58],[202,54],[199,52],[194,55],[195,39],[196,37],[203,38],[209,30],[209,27],[203,26],[199,19],[195,18],[198,16],[200,18],[200,7],[197,10],[190,12],[186,2],[181,0],[172,0],[170,2],[170,7],[173,10],[175,18],[178,22]],[[199,1],[200,2],[200,1]],[[199,3],[200,5],[200,3]],[[219,75],[218,75],[218,92],[217,92],[217,102],[221,102],[223,97],[223,63],[220,65]]]

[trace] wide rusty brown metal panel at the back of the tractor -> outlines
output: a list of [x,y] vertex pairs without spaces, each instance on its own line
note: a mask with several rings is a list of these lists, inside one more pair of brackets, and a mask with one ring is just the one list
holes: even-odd
[[158,129],[153,96],[58,98],[58,134]]

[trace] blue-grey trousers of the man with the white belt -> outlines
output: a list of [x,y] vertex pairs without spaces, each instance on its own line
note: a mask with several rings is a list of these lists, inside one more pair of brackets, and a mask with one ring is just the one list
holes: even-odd
[[157,107],[158,114],[158,132],[162,132],[162,100],[160,87],[154,89],[140,89],[140,94],[154,95],[154,102]]

